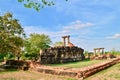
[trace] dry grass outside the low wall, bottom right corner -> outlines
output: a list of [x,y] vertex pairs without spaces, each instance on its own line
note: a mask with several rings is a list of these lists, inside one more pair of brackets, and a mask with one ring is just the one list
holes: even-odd
[[120,80],[120,63],[98,72],[85,80]]

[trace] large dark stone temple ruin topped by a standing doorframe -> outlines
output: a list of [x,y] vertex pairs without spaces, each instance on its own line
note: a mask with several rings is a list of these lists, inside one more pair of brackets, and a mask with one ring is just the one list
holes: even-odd
[[63,46],[50,47],[41,51],[41,63],[66,63],[85,59],[84,50],[70,42],[70,36],[62,36]]

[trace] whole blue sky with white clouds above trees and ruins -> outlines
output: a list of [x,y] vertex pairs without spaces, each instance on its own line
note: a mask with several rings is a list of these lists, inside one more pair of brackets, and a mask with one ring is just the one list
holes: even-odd
[[71,42],[87,51],[104,47],[120,50],[120,0],[54,0],[40,12],[17,0],[0,0],[0,15],[13,13],[27,35],[49,35],[54,42],[70,35]]

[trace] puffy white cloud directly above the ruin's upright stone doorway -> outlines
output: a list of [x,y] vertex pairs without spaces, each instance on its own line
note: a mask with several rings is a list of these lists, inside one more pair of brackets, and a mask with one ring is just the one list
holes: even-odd
[[61,26],[61,30],[54,32],[54,34],[56,34],[55,36],[85,34],[89,32],[87,28],[92,26],[94,26],[93,23],[83,23],[80,20],[76,20],[74,22],[68,23],[68,25]]

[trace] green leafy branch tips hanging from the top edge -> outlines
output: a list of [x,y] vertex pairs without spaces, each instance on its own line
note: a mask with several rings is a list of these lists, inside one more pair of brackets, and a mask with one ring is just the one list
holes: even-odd
[[45,6],[55,5],[53,0],[18,0],[18,2],[23,3],[26,8],[34,8],[36,11],[40,11]]

